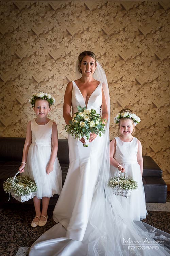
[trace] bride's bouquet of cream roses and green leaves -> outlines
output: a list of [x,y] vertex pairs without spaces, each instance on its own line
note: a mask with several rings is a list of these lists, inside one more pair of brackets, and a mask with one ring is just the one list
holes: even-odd
[[83,144],[83,147],[88,147],[90,133],[99,134],[99,136],[102,133],[105,134],[105,123],[102,124],[101,117],[96,114],[95,109],[86,109],[81,106],[77,109],[78,112],[74,113],[70,124],[65,126],[65,130],[78,140],[84,137],[86,144]]

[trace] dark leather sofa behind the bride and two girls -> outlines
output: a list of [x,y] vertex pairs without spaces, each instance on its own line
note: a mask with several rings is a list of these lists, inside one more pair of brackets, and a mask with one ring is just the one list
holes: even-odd
[[[22,161],[22,151],[25,138],[0,137],[0,203],[8,202],[9,194],[3,190],[3,182],[14,176]],[[60,139],[58,141],[58,159],[62,168],[62,182],[64,184],[68,166],[69,152],[68,140]],[[162,170],[153,161],[150,156],[143,156],[143,184],[145,188],[146,202],[150,203],[165,203],[167,196],[167,185],[162,179]],[[50,204],[55,205],[58,195],[50,199]],[[140,200],[140,199],[139,199]],[[10,198],[9,203],[20,203],[17,200]],[[33,203],[29,200],[24,203]]]

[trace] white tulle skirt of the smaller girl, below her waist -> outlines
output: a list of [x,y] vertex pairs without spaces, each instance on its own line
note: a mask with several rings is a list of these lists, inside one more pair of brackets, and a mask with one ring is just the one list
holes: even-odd
[[[125,163],[122,164],[122,166],[125,168],[126,175],[138,183],[138,188],[137,190],[134,190],[128,198],[117,196],[117,199],[121,203],[125,212],[128,213],[131,221],[140,221],[140,219],[145,219],[147,214],[145,190],[143,187],[140,166],[138,163]],[[111,174],[112,176],[118,176],[118,169],[111,166]],[[121,173],[121,176],[124,176],[124,173]]]

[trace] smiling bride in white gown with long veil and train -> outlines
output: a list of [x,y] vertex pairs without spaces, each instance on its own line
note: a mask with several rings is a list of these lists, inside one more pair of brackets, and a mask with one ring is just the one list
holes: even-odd
[[29,256],[170,255],[164,246],[170,236],[141,221],[131,222],[107,187],[110,175],[107,79],[90,51],[79,55],[78,70],[81,78],[66,87],[65,122],[69,124],[72,119],[71,110],[74,114],[77,106],[86,106],[107,120],[106,133],[101,137],[91,134],[88,147],[83,147],[84,138],[78,141],[68,135],[70,165],[53,211],[57,224],[34,242]]

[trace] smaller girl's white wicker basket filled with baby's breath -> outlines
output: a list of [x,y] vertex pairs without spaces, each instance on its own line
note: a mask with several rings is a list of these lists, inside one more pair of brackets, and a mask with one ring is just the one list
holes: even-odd
[[126,179],[125,177],[120,177],[120,175],[118,177],[112,177],[108,182],[108,186],[112,188],[115,195],[124,197],[129,197],[132,191],[138,188],[138,184],[135,180],[131,178]]

